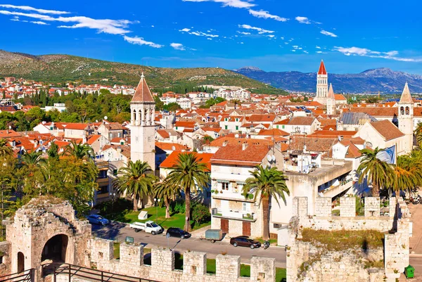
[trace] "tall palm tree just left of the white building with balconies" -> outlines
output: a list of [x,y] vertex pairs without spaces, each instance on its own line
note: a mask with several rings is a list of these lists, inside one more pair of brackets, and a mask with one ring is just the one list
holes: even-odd
[[196,153],[181,153],[167,176],[170,185],[177,186],[184,191],[185,231],[191,230],[191,192],[203,191],[203,188],[210,183],[207,165],[200,162],[201,160],[202,158],[198,158]]

